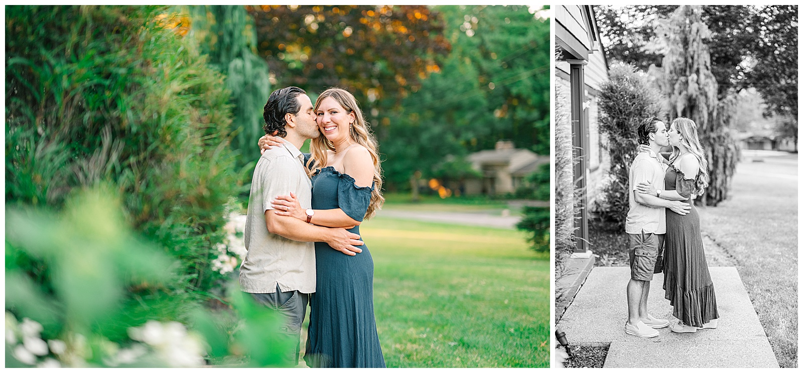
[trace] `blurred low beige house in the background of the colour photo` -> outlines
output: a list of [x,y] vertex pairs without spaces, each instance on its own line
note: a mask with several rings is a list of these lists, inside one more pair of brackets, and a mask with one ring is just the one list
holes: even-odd
[[467,180],[465,194],[499,195],[514,193],[524,177],[536,172],[548,156],[539,156],[528,149],[515,148],[512,141],[497,141],[495,149],[482,150],[468,156],[472,168],[482,173],[482,180]]

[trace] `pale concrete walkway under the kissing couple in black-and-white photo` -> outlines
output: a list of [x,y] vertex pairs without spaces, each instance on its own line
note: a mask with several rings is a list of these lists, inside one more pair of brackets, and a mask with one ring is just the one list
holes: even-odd
[[[719,307],[717,329],[676,334],[662,328],[650,339],[626,334],[630,267],[594,268],[558,326],[571,345],[610,344],[604,367],[778,367],[736,268],[709,270]],[[675,322],[662,284],[663,274],[656,274],[648,310]]]

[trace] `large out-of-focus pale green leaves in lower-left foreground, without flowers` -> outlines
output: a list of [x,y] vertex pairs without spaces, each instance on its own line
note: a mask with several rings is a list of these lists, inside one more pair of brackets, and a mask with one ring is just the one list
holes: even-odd
[[[6,211],[6,309],[43,326],[43,338],[67,331],[102,340],[128,339],[148,319],[181,318],[173,260],[123,229],[120,203],[100,189],[51,209]],[[100,364],[104,354],[88,357]]]

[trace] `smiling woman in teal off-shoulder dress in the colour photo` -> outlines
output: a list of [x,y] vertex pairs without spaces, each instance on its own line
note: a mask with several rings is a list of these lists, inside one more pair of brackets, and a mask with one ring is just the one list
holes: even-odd
[[[352,227],[373,217],[385,198],[376,140],[357,100],[329,88],[314,108],[323,136],[312,139],[307,162],[312,176],[312,212],[295,196],[279,196],[275,213],[315,225]],[[267,144],[281,139],[266,136]],[[265,141],[260,140],[260,143]],[[373,259],[368,247],[348,256],[325,242],[315,243],[316,292],[310,296],[310,323],[304,360],[310,367],[385,367],[373,316]]]

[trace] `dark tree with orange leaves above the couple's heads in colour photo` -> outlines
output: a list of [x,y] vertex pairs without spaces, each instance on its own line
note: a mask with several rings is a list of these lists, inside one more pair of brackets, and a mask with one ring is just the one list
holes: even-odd
[[344,87],[363,104],[402,98],[445,55],[438,13],[427,6],[247,6],[257,50],[280,86]]

